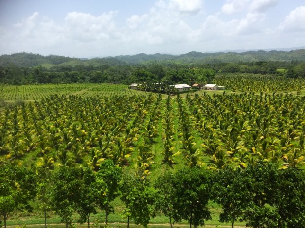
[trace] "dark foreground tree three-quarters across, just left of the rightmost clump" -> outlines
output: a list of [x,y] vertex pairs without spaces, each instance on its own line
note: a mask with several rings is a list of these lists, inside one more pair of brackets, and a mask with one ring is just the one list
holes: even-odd
[[245,178],[241,168],[235,170],[225,167],[216,175],[216,182],[213,185],[213,200],[222,206],[219,215],[220,222],[234,222],[241,220],[246,207],[249,205],[250,194],[248,185],[250,179]]

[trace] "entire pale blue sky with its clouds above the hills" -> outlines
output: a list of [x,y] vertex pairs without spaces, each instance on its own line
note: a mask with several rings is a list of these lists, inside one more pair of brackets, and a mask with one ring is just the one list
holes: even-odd
[[77,58],[305,46],[305,0],[0,0],[0,54]]

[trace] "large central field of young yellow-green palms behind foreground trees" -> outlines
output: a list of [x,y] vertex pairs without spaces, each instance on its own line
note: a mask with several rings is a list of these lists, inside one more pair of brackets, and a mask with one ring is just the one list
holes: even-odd
[[[180,151],[189,167],[220,169],[229,163],[244,167],[261,159],[280,167],[301,167],[304,101],[289,94],[253,93],[203,93],[185,99],[178,95],[166,100],[153,94],[51,96],[9,107],[1,114],[1,163],[49,168],[78,164],[96,169],[110,158],[126,166],[133,163],[129,157],[151,150],[151,145],[160,143],[156,136],[164,134],[161,144],[169,165],[175,163],[169,153],[177,156]],[[166,112],[161,112],[164,108]],[[159,132],[160,124],[164,132]]]

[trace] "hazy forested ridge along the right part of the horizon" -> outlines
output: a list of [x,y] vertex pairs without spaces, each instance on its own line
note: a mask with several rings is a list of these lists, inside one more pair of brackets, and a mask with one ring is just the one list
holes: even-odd
[[201,62],[213,64],[217,62],[258,62],[258,61],[292,61],[305,60],[305,49],[294,51],[246,51],[242,53],[236,52],[218,52],[218,53],[201,53],[192,51],[182,55],[159,54],[147,55],[144,53],[137,55],[120,55],[115,56],[116,59],[127,63],[143,63],[147,61],[164,61],[174,60],[176,62]]

